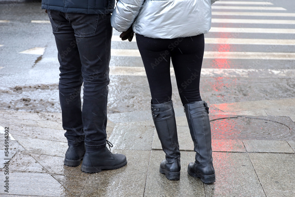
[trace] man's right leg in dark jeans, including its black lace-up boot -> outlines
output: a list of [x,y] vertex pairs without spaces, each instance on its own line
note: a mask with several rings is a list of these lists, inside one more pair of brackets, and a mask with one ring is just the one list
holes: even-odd
[[111,55],[111,14],[67,13],[75,32],[84,82],[82,121],[86,153],[81,170],[86,173],[117,169],[127,164],[125,155],[106,148],[107,96]]

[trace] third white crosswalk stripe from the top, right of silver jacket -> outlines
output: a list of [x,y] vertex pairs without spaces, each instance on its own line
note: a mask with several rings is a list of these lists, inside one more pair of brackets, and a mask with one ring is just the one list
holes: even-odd
[[212,12],[212,15],[225,16],[267,16],[267,17],[295,17],[295,13],[283,12]]

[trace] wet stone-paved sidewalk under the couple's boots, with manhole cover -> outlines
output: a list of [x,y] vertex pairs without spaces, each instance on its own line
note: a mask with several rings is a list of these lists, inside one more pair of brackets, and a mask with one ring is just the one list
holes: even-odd
[[[165,158],[150,110],[109,114],[112,152],[128,164],[95,174],[63,165],[67,143],[60,113],[0,111],[1,182],[9,158],[9,193],[0,196],[294,196],[295,99],[210,106],[216,182],[187,174],[193,142],[183,108],[176,108],[181,179],[159,173]],[[148,106],[147,106],[148,108]],[[5,156],[4,127],[9,127]],[[6,159],[6,160],[4,160]]]

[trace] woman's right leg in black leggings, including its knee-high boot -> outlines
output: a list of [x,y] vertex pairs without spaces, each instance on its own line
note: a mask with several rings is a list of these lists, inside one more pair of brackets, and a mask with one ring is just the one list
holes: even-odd
[[209,108],[201,100],[199,90],[204,35],[183,38],[177,49],[173,51],[171,59],[196,152],[195,162],[189,164],[188,173],[200,177],[204,183],[213,183],[215,170],[212,162]]

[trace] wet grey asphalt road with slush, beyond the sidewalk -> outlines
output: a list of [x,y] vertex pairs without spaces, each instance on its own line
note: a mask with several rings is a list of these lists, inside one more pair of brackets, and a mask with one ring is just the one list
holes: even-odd
[[[242,2],[242,1],[239,1]],[[248,1],[249,2],[249,1]],[[265,1],[266,2],[266,1]],[[257,5],[227,5],[216,4],[213,12],[256,12],[274,13],[269,16],[224,15],[213,14],[213,19],[252,19],[252,21],[214,22],[212,31],[205,38],[233,38],[253,39],[243,44],[233,44],[231,41],[224,43],[206,43],[205,51],[219,52],[257,52],[267,53],[260,57],[227,58],[222,55],[214,58],[205,58],[203,69],[220,69],[219,75],[201,76],[201,97],[209,104],[277,100],[290,98],[295,95],[295,76],[278,76],[269,73],[260,77],[257,69],[267,71],[295,69],[295,59],[286,55],[295,53],[295,32],[286,33],[287,29],[295,29],[295,2],[288,0],[267,1],[272,5],[263,7],[277,7],[281,10],[232,10],[217,6],[257,6]],[[40,9],[40,2],[0,1],[0,110],[21,111],[48,111],[60,112],[58,99],[58,67],[57,50],[51,25],[49,23],[34,23],[32,20],[49,20],[44,10]],[[288,16],[276,16],[277,13],[291,13]],[[293,15],[292,15],[293,14]],[[267,14],[266,14],[267,15]],[[254,21],[263,19],[260,24]],[[287,24],[278,23],[275,20],[287,20]],[[237,32],[216,32],[214,28],[237,28]],[[249,33],[253,28],[264,28],[259,33]],[[271,33],[270,29],[282,29],[282,33]],[[215,32],[214,32],[214,31]],[[117,41],[120,33],[114,30],[112,38],[113,50],[137,50],[136,42]],[[258,39],[275,40],[273,44],[257,44]],[[218,39],[215,39],[215,41]],[[289,44],[278,44],[277,40],[289,40]],[[291,41],[290,41],[291,40]],[[1,46],[2,45],[2,46]],[[31,48],[45,48],[44,53],[24,54],[19,53]],[[119,52],[118,52],[119,53]],[[265,56],[273,56],[274,53],[283,53],[284,58],[267,59]],[[287,54],[288,53],[288,54]],[[115,53],[112,53],[115,54]],[[132,54],[131,54],[132,55]],[[121,56],[117,53],[112,56],[110,66],[143,67],[141,58],[133,56]],[[123,68],[123,67],[122,67]],[[124,68],[125,69],[125,68]],[[250,77],[224,75],[228,70],[256,69]],[[140,74],[110,73],[108,112],[130,112],[147,110],[150,102],[150,92],[146,76]],[[176,107],[180,107],[181,101],[178,95],[176,81],[172,76],[173,96]]]

